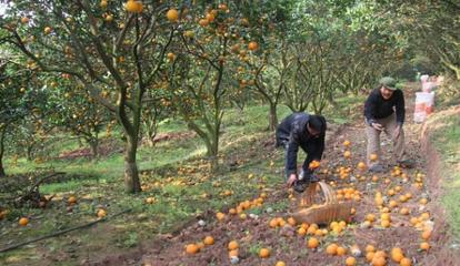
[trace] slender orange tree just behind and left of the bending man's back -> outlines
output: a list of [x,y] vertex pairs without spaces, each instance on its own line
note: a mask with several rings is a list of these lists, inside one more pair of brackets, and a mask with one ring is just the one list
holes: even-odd
[[241,23],[247,25],[252,37],[252,44],[256,47],[256,53],[251,54],[251,60],[246,61],[246,71],[241,71],[242,75],[249,80],[242,85],[251,86],[269,103],[268,129],[270,131],[278,125],[277,106],[282,99],[288,73],[294,64],[292,54],[289,52],[290,41],[286,35],[293,2],[270,1],[267,4],[258,4],[252,1],[242,1],[238,6],[244,16]]

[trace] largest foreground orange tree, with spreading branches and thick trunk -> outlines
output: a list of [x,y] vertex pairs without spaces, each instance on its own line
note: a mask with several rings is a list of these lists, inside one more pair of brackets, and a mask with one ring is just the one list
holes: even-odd
[[176,29],[164,3],[13,2],[2,20],[9,32],[3,40],[29,58],[29,68],[79,83],[116,115],[126,136],[126,190],[140,192],[136,157],[144,93],[159,80]]

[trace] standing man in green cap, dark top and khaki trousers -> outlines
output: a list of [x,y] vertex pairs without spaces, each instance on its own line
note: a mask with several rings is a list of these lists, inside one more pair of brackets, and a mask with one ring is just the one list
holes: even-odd
[[[393,143],[393,154],[399,165],[412,167],[413,162],[404,152],[404,95],[396,88],[393,78],[384,76],[364,104],[366,132],[368,135],[367,161],[370,172],[383,172],[380,158],[380,133],[383,131]],[[377,156],[376,156],[377,155]]]

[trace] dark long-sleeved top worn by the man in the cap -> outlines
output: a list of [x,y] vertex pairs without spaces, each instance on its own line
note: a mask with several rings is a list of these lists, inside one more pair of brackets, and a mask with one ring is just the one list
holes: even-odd
[[370,125],[376,120],[384,119],[394,113],[399,125],[404,123],[404,95],[401,90],[396,90],[390,99],[384,100],[380,88],[372,90],[364,103],[366,121]]

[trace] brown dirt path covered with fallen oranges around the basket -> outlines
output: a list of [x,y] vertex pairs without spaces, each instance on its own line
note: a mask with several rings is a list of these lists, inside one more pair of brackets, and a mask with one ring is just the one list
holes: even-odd
[[[409,93],[408,93],[409,94]],[[333,182],[336,190],[353,188],[359,195],[356,201],[356,215],[340,234],[332,233],[329,226],[321,226],[328,233],[324,236],[313,236],[307,234],[299,235],[300,225],[282,228],[271,228],[270,221],[273,217],[286,217],[286,212],[269,212],[271,206],[287,201],[289,193],[284,187],[279,186],[274,190],[264,190],[267,194],[261,212],[257,218],[248,215],[244,219],[239,215],[226,215],[223,221],[218,222],[216,217],[210,217],[204,226],[198,223],[184,228],[177,236],[166,237],[160,242],[153,243],[143,250],[143,255],[137,258],[136,264],[167,266],[167,265],[230,265],[228,244],[231,241],[239,243],[238,265],[276,265],[282,260],[286,265],[344,265],[346,258],[351,256],[350,247],[358,245],[362,256],[356,256],[357,265],[369,265],[367,245],[372,245],[378,250],[383,250],[388,256],[393,247],[400,247],[404,257],[409,258],[412,265],[454,265],[453,258],[446,253],[446,228],[442,213],[437,209],[437,203],[431,202],[430,182],[426,175],[427,168],[424,154],[419,141],[420,125],[412,124],[412,103],[413,95],[407,95],[407,123],[404,125],[407,135],[407,151],[417,161],[417,166],[412,170],[394,171],[391,157],[391,143],[383,137],[382,161],[388,171],[382,174],[371,175],[356,168],[358,162],[364,160],[366,134],[361,121],[348,125],[337,137],[332,137],[328,143],[326,160],[321,165],[322,171],[328,170],[328,174],[322,174],[322,180]],[[359,111],[361,112],[361,110]],[[349,149],[352,153],[351,160],[343,158],[344,140],[352,144]],[[278,156],[282,153],[273,151]],[[433,156],[432,154],[430,156]],[[348,174],[339,176],[340,167],[350,168]],[[343,173],[346,171],[342,171]],[[269,174],[269,173],[267,173]],[[436,173],[430,173],[436,174]],[[254,188],[254,193],[257,193]],[[390,191],[390,192],[389,192]],[[394,195],[391,195],[392,192]],[[382,206],[376,204],[376,194],[383,196]],[[257,194],[254,194],[254,198]],[[406,198],[403,198],[406,197]],[[422,198],[428,200],[428,204],[421,204]],[[253,198],[248,198],[249,201]],[[289,209],[297,208],[296,201],[288,201]],[[390,206],[391,205],[391,206]],[[381,213],[388,208],[391,216],[390,227],[381,225]],[[408,215],[400,213],[401,208],[409,211]],[[248,214],[251,211],[247,212]],[[372,214],[376,221],[370,227],[364,226],[367,215]],[[423,217],[424,216],[424,217]],[[416,221],[417,219],[417,221]],[[411,223],[413,222],[413,223]],[[417,222],[417,223],[416,223]],[[420,250],[420,244],[424,242],[421,237],[422,228],[433,227],[428,252]],[[427,229],[423,229],[427,231]],[[311,233],[313,233],[312,231]],[[313,233],[318,234],[318,232]],[[186,254],[184,246],[202,242],[206,236],[212,236],[214,244],[206,246],[194,255]],[[319,239],[318,248],[307,247],[307,241],[311,237]],[[329,244],[336,243],[348,249],[346,256],[333,256],[326,253]],[[268,258],[258,256],[259,249],[266,247],[271,250]],[[116,259],[122,263],[123,258]],[[109,260],[110,262],[110,260]],[[386,265],[399,265],[387,257]],[[129,264],[127,260],[124,264]]]

